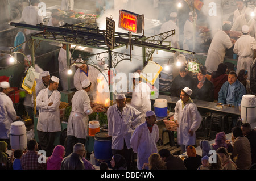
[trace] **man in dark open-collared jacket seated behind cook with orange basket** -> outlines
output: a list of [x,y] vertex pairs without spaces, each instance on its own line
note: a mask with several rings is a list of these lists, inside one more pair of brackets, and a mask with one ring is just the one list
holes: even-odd
[[191,98],[213,102],[214,86],[213,83],[207,79],[206,74],[207,71],[205,69],[201,69],[199,73],[197,73],[197,80],[195,81]]

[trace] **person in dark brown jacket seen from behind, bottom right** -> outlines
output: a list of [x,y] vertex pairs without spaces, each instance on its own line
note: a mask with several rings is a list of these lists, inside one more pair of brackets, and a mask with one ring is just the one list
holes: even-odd
[[240,127],[232,128],[233,153],[231,157],[237,168],[249,170],[251,167],[251,146],[249,140],[243,136]]

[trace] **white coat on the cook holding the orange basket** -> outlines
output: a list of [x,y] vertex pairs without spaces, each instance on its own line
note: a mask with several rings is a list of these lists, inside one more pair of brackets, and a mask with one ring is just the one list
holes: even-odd
[[[194,103],[189,102],[182,108],[181,99],[176,103],[174,113],[174,120],[179,123],[177,129],[177,144],[179,145],[195,145],[196,144],[196,130],[200,127],[202,117],[197,111],[197,107]],[[190,136],[188,133],[191,129],[194,133]]]

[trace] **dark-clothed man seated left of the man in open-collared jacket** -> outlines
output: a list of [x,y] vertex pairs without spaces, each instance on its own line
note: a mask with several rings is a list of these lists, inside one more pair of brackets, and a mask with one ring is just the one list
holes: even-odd
[[190,75],[188,75],[187,66],[181,66],[179,75],[175,77],[174,81],[172,82],[170,95],[174,97],[180,97],[180,91],[184,87],[189,87],[190,89],[192,89],[194,82],[195,81],[193,80],[193,78]]

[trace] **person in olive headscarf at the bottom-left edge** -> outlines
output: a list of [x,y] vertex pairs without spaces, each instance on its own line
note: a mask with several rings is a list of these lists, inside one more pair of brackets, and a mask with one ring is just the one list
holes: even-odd
[[13,169],[13,154],[11,155],[11,158],[8,159],[9,155],[6,153],[7,146],[5,141],[0,141],[0,170]]

